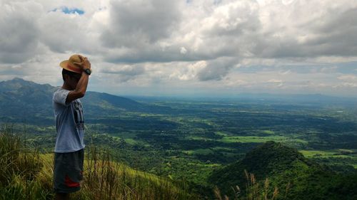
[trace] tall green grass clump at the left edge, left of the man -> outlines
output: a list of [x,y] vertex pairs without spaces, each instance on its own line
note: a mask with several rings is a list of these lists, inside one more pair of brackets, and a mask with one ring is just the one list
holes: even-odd
[[35,181],[42,163],[39,151],[21,142],[11,127],[0,130],[0,199],[46,199],[50,192]]

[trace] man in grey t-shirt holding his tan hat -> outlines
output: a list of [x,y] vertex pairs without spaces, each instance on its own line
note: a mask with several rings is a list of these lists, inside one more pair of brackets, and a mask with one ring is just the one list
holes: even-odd
[[54,191],[56,199],[69,199],[81,189],[84,162],[84,117],[81,101],[91,75],[91,63],[73,55],[60,63],[64,84],[54,92],[52,103],[56,122],[54,148]]

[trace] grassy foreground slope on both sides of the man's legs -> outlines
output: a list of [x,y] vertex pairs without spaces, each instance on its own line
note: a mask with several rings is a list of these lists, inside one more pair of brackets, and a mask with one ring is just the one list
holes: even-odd
[[[71,199],[196,200],[184,184],[114,162],[104,149],[86,147],[84,181]],[[0,130],[0,200],[53,199],[53,154],[24,147],[9,128]]]

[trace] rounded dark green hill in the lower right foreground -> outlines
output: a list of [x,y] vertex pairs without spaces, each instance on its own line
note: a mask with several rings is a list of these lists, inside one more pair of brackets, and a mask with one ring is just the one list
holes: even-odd
[[276,142],[256,147],[244,159],[214,171],[208,179],[222,194],[233,197],[231,186],[245,190],[244,170],[254,174],[261,186],[268,178],[278,186],[281,199],[288,183],[291,186],[286,199],[357,199],[357,174],[337,174],[306,159],[296,149]]

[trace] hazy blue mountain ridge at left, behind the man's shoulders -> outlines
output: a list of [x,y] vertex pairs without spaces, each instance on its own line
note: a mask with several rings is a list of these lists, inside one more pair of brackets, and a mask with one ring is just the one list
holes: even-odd
[[[52,95],[56,87],[14,78],[0,82],[0,122],[31,122],[53,125]],[[119,115],[122,111],[152,110],[129,98],[88,91],[81,99],[86,116]]]

